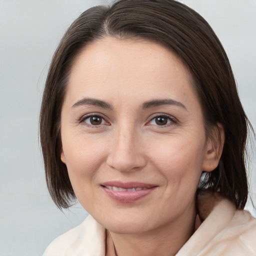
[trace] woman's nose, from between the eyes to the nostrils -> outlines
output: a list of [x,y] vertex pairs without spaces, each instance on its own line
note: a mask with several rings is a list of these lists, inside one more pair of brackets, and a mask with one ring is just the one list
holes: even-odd
[[138,132],[120,127],[111,138],[107,165],[122,172],[143,168],[146,165],[146,157],[141,142],[141,135]]

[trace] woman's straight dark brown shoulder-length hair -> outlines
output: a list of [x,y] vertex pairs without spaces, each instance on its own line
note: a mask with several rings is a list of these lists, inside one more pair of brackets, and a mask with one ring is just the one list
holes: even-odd
[[40,112],[40,140],[47,186],[58,207],[75,199],[60,160],[60,111],[74,57],[105,36],[140,37],[167,46],[187,65],[209,127],[223,125],[225,143],[218,166],[201,187],[218,191],[243,208],[247,200],[245,143],[249,121],[241,106],[227,55],[209,24],[174,0],[118,0],[84,11],[63,35],[50,64]]

